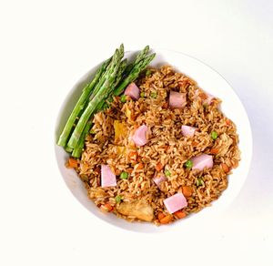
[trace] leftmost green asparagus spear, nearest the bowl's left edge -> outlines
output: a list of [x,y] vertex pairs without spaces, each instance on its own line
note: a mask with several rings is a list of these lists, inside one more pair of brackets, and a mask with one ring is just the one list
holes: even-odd
[[57,144],[59,146],[66,147],[67,139],[69,138],[70,132],[76,122],[76,118],[79,116],[83,108],[86,106],[86,100],[88,99],[92,89],[95,87],[97,81],[102,76],[102,74],[106,71],[106,67],[109,65],[111,58],[107,59],[101,67],[99,67],[96,71],[96,75],[93,78],[92,82],[87,84],[83,89],[82,95],[79,97],[76,102],[76,106],[74,107],[70,117],[67,119],[66,126],[60,135]]

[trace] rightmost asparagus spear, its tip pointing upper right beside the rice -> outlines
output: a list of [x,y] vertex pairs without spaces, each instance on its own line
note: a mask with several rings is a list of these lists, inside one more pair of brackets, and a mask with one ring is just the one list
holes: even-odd
[[131,70],[129,75],[122,80],[122,82],[116,87],[114,91],[114,95],[118,96],[120,95],[126,86],[136,80],[136,77],[138,77],[139,73],[147,67],[147,65],[155,58],[156,54],[151,54],[149,56],[146,56],[144,59],[139,61]]

